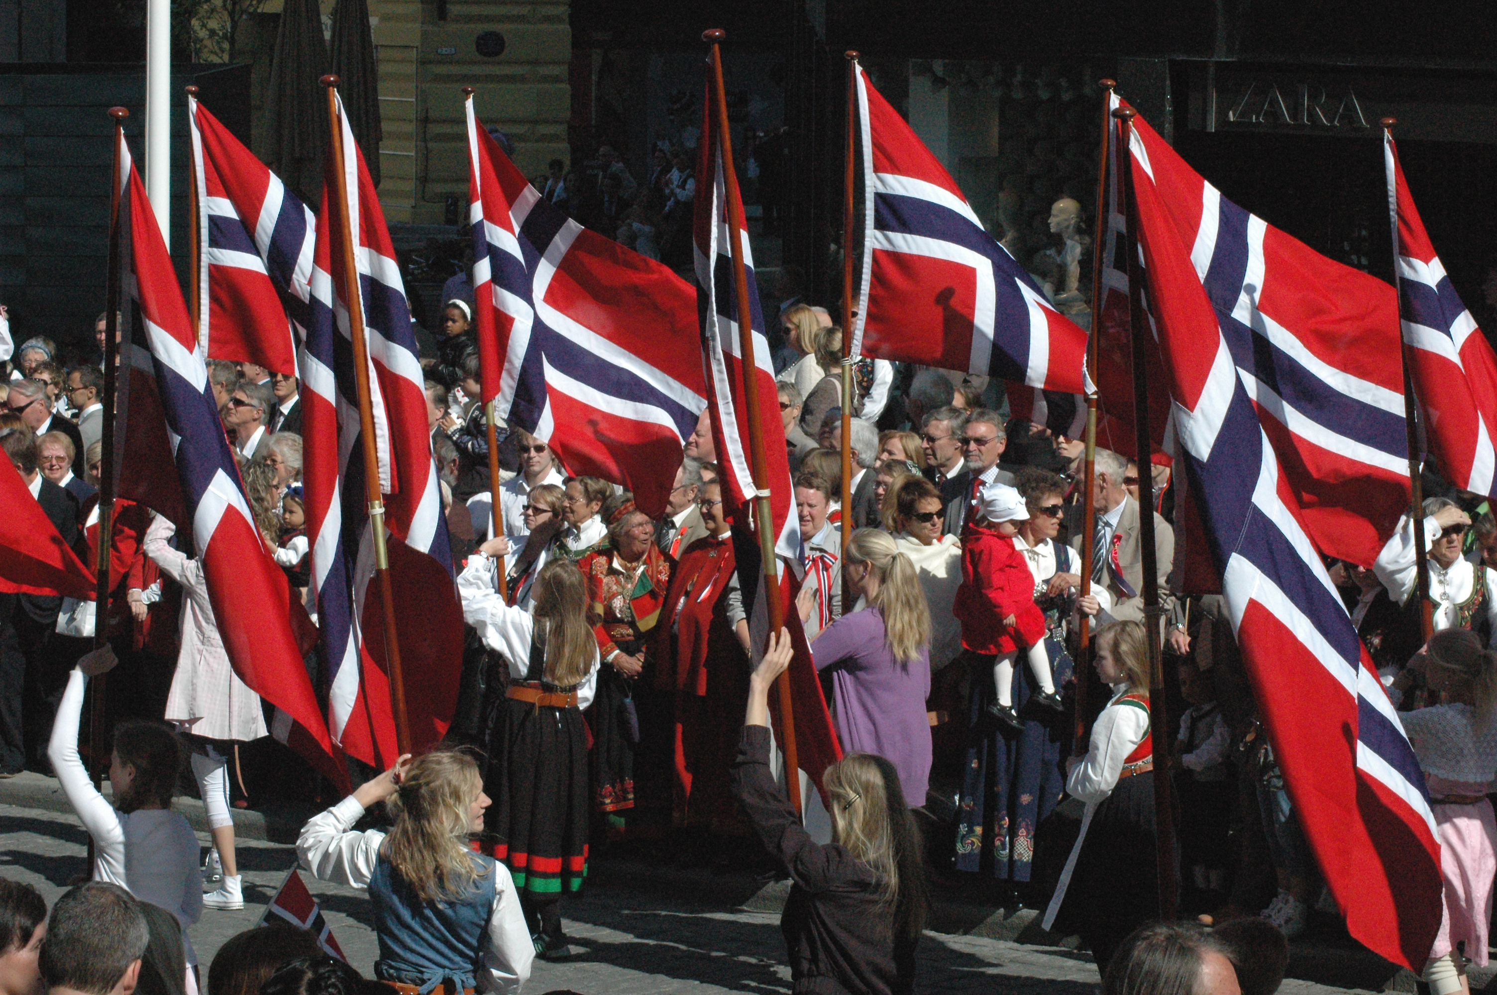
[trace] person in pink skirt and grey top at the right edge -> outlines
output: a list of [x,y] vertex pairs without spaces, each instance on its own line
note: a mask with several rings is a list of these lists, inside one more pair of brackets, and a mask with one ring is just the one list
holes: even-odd
[[[1497,777],[1497,654],[1469,628],[1430,637],[1410,667],[1422,667],[1443,705],[1398,712],[1430,787],[1440,836],[1445,916],[1430,950],[1424,980],[1433,995],[1470,992],[1466,959],[1487,964],[1497,874],[1497,820],[1487,800]],[[1457,947],[1466,943],[1466,959]]]

